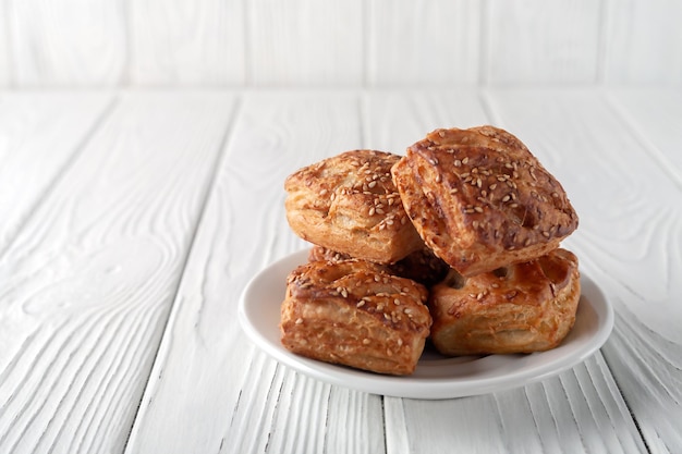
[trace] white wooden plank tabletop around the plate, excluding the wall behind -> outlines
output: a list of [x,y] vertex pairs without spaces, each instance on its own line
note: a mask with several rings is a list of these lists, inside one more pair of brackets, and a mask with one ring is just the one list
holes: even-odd
[[[516,134],[616,309],[594,356],[442,401],[338,388],[241,331],[258,270],[305,244],[282,188],[441,126]],[[682,452],[682,91],[0,93],[1,453]]]

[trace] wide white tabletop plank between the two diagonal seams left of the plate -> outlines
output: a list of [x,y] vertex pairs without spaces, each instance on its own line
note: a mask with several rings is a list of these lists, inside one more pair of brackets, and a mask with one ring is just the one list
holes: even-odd
[[121,452],[231,98],[125,94],[0,257],[0,451]]

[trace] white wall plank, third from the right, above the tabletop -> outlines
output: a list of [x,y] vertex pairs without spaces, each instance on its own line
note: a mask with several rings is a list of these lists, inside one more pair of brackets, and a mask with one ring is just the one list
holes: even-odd
[[374,0],[366,15],[369,86],[478,82],[480,2]]

